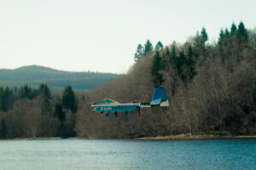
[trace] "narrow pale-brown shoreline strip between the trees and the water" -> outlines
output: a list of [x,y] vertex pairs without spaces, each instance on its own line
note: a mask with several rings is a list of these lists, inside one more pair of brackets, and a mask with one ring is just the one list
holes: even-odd
[[[38,137],[38,138],[15,138],[15,139],[0,139],[3,140],[53,140],[53,139],[96,139],[96,138],[61,138],[61,137]],[[213,135],[213,134],[178,134],[169,136],[157,137],[141,137],[131,140],[182,140],[182,139],[256,139],[256,135]],[[103,140],[103,139],[100,139]]]

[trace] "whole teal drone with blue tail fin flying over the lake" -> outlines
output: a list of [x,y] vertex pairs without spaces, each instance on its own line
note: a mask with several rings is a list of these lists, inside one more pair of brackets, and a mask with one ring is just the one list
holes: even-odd
[[150,103],[131,102],[131,103],[119,103],[113,99],[103,99],[103,104],[91,104],[95,107],[94,111],[106,113],[106,116],[113,119],[113,113],[118,116],[118,112],[125,112],[124,117],[130,119],[129,111],[138,111],[138,115],[141,114],[141,108],[148,107],[166,107],[169,106],[169,101],[164,88],[154,88],[154,94]]

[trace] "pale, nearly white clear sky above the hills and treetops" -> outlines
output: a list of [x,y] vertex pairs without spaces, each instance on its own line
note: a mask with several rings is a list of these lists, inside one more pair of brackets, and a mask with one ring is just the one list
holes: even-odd
[[125,73],[139,43],[256,26],[255,0],[0,0],[0,68]]

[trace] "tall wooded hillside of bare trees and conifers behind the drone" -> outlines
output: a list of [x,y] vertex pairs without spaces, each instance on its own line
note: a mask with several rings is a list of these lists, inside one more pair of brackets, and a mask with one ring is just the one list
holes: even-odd
[[[241,22],[221,29],[209,43],[207,30],[183,44],[139,44],[127,75],[88,94],[80,105],[76,132],[81,137],[135,138],[180,133],[256,133],[256,31]],[[120,102],[151,100],[154,87],[166,88],[170,106],[148,108],[113,121],[90,111],[103,98]]]

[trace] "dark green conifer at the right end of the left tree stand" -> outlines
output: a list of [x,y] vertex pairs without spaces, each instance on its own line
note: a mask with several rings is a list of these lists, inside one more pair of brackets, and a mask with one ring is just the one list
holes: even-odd
[[62,105],[65,109],[71,110],[73,113],[77,111],[75,95],[71,86],[67,85],[62,94]]

